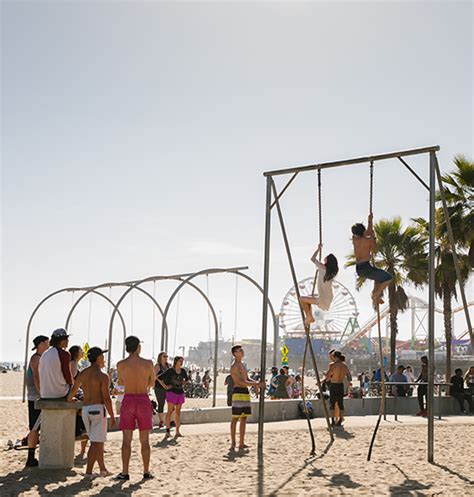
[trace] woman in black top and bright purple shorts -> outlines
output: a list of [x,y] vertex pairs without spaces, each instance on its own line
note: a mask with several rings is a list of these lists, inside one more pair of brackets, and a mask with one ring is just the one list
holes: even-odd
[[166,411],[166,436],[170,436],[171,416],[175,413],[175,439],[183,436],[180,432],[181,407],[186,400],[184,387],[188,381],[188,374],[183,368],[183,363],[184,357],[176,356],[173,360],[173,367],[168,369],[158,379],[166,390],[166,402],[168,403],[168,410]]

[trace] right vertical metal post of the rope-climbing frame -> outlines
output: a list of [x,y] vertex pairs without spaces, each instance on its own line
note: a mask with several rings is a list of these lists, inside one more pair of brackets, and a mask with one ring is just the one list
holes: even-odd
[[435,169],[436,155],[430,152],[429,296],[428,296],[428,462],[434,461],[434,336],[435,336]]

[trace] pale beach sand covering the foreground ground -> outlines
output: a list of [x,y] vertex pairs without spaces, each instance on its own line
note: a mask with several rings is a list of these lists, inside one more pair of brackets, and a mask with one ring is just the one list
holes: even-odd
[[[17,381],[14,373],[3,385]],[[20,375],[21,376],[21,375]],[[20,382],[21,383],[21,382]],[[12,387],[11,392],[19,395]],[[0,443],[15,439],[26,424],[26,405],[0,401]],[[257,457],[256,425],[249,426],[251,449],[229,454],[227,424],[185,425],[178,443],[151,434],[155,480],[141,480],[138,442],[134,442],[130,482],[110,478],[85,480],[84,462],[69,471],[23,469],[26,451],[0,452],[0,495],[474,495],[474,417],[436,421],[435,464],[426,462],[426,420],[400,416],[381,425],[370,463],[366,462],[374,417],[349,419],[329,437],[323,420],[313,421],[317,454],[303,420],[265,427],[263,467]],[[106,463],[120,471],[121,434],[109,434]],[[77,444],[77,451],[79,445]]]

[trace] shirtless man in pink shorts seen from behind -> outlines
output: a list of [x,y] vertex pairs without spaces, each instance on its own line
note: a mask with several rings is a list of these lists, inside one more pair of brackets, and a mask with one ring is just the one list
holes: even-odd
[[153,428],[153,410],[148,390],[155,385],[153,361],[140,357],[140,340],[135,336],[125,339],[129,356],[117,363],[117,382],[125,387],[120,408],[119,429],[122,430],[122,472],[117,480],[129,480],[128,467],[132,452],[133,430],[138,425],[143,459],[143,479],[153,478],[150,473],[149,435]]

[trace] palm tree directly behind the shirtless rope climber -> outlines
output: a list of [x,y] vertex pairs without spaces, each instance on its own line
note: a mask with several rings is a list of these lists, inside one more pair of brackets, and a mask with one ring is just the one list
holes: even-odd
[[[400,217],[381,219],[374,225],[377,237],[375,265],[390,273],[393,278],[388,286],[390,319],[390,370],[395,371],[398,313],[408,307],[404,286],[421,286],[427,281],[426,234],[419,226],[403,228]],[[347,256],[346,266],[355,265],[354,254]],[[359,289],[367,280],[358,278]]]

